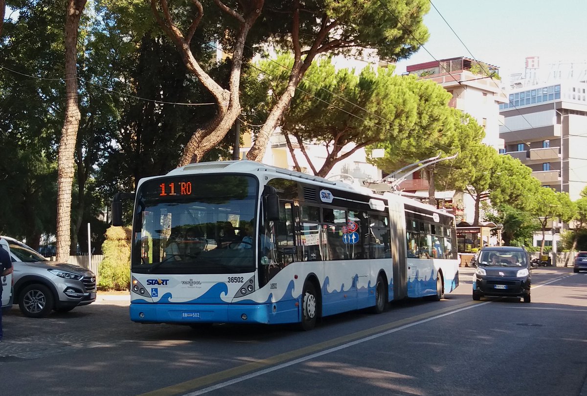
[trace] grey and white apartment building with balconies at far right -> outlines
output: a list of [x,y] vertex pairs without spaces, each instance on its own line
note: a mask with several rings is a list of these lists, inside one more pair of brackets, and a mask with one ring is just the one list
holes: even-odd
[[542,186],[579,198],[587,186],[587,82],[550,80],[510,91],[500,104],[503,151]]

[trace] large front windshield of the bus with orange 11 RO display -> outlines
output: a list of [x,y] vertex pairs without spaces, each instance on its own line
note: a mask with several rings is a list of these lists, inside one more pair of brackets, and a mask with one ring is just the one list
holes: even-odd
[[[166,176],[137,192],[131,269],[153,274],[255,271],[251,226],[257,179],[243,175]],[[247,238],[245,238],[247,237]]]

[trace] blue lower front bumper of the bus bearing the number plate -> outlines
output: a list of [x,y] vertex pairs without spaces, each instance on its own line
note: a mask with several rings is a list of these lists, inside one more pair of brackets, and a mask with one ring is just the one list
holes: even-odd
[[265,304],[131,303],[130,320],[140,323],[295,323],[296,300]]

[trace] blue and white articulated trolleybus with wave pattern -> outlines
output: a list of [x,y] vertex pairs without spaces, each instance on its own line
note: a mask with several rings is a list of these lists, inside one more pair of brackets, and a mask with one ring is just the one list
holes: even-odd
[[141,179],[130,317],[143,323],[298,323],[458,285],[454,217],[415,200],[251,161]]

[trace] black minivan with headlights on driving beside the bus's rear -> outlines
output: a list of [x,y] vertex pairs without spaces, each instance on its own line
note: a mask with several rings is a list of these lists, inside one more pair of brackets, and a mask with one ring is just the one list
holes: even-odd
[[530,302],[530,261],[523,247],[485,246],[478,252],[473,275],[473,299],[518,297]]

